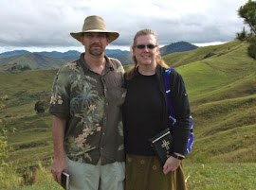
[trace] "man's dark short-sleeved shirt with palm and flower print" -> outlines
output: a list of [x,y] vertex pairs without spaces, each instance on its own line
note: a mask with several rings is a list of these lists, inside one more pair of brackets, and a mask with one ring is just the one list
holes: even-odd
[[124,161],[121,87],[124,70],[119,60],[105,56],[101,75],[80,59],[65,64],[53,82],[49,112],[65,119],[64,150],[76,162],[110,164]]

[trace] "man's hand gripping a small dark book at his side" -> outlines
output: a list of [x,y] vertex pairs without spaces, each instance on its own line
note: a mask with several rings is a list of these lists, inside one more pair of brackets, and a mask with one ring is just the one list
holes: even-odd
[[62,172],[66,170],[66,164],[64,159],[55,159],[51,164],[51,173],[55,181],[62,183]]

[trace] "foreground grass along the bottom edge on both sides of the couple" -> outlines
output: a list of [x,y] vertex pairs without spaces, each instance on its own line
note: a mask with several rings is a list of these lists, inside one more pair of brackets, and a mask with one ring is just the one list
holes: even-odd
[[[253,190],[256,186],[256,164],[183,164],[188,190]],[[1,170],[0,170],[1,174]],[[34,181],[32,185],[25,185],[22,174],[14,173],[11,168],[2,181],[0,189],[13,190],[55,190],[63,189],[50,173],[49,167],[39,163],[34,172],[27,173],[27,181]],[[12,181],[12,182],[11,182]],[[13,183],[15,181],[15,183]],[[18,184],[18,185],[17,185]]]

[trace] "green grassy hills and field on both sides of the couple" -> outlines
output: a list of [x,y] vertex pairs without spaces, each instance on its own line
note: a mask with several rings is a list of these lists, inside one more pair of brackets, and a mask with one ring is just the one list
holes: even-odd
[[[247,46],[233,41],[163,57],[184,78],[192,107],[194,145],[185,161],[189,189],[255,189],[256,61],[247,56]],[[9,163],[18,176],[38,162],[49,173],[51,115],[37,114],[34,105],[49,102],[56,72],[0,72],[1,93],[8,95],[0,119],[9,130]],[[23,189],[53,184],[51,179]]]

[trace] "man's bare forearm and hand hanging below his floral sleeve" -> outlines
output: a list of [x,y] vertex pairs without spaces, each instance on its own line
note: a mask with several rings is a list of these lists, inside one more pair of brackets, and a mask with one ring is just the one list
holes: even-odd
[[53,116],[52,139],[54,147],[54,159],[51,165],[51,173],[55,181],[62,182],[62,172],[66,169],[64,160],[64,129],[66,120]]

